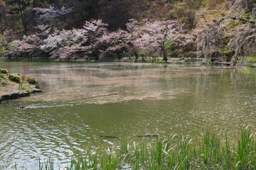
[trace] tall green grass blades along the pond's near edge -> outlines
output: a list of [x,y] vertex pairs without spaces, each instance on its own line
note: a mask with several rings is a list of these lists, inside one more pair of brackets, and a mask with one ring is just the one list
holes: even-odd
[[[241,131],[232,147],[228,137],[206,132],[201,142],[191,144],[187,137],[156,140],[154,145],[120,141],[119,152],[72,158],[68,170],[82,169],[256,169],[255,133]],[[40,170],[53,170],[53,159],[39,162]]]

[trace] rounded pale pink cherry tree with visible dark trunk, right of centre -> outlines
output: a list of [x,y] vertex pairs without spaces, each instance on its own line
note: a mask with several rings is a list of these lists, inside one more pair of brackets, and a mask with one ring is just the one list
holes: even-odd
[[149,55],[152,52],[160,52],[166,62],[166,50],[174,44],[181,49],[191,41],[191,38],[185,35],[182,26],[183,24],[178,21],[150,21],[146,19],[137,30],[140,37],[133,41],[133,45]]

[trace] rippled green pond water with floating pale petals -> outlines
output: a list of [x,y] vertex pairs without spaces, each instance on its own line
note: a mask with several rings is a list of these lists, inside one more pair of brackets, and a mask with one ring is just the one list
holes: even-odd
[[[111,62],[26,66],[43,93],[0,103],[0,169],[15,163],[37,169],[39,157],[53,157],[63,167],[73,155],[106,151],[122,138],[139,141],[146,134],[196,141],[210,130],[232,140],[247,125],[256,130],[256,69]],[[23,70],[16,62],[0,67]]]

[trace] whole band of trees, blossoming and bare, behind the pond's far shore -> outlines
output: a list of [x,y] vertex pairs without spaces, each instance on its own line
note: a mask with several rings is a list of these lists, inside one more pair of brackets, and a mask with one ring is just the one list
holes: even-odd
[[255,0],[0,1],[4,59],[256,62]]

